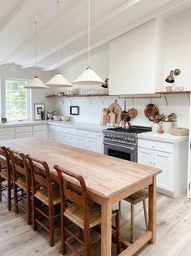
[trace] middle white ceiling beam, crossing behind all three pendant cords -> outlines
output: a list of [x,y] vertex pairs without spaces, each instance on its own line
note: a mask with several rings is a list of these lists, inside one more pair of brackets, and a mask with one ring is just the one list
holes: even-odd
[[[122,4],[120,7],[117,7],[116,9],[110,11],[108,14],[104,15],[100,20],[97,20],[96,22],[93,21],[91,23],[91,31],[93,31],[96,28],[100,28],[103,24],[108,22],[109,20],[112,20],[117,15],[120,15],[121,12],[126,11],[129,9],[129,7],[134,6],[136,3],[140,2],[141,0],[129,0],[128,2],[125,2],[125,4]],[[64,41],[62,44],[60,44],[60,49],[69,46],[72,42],[77,41],[79,38],[87,35],[87,28],[84,28],[79,33],[76,33],[73,37],[70,37],[66,41]],[[48,58],[50,55],[55,54],[57,52],[57,46],[53,47],[52,49],[48,50],[44,54],[41,54],[38,56],[38,62],[40,63],[44,59]],[[23,65],[22,68],[28,68],[32,67],[34,65],[34,59],[31,63],[28,63],[26,65]]]

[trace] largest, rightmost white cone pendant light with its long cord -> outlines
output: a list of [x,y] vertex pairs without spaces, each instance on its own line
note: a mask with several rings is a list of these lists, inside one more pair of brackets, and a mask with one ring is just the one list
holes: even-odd
[[90,67],[90,0],[88,0],[88,66],[87,69],[74,80],[74,85],[103,85],[104,80],[100,78]]

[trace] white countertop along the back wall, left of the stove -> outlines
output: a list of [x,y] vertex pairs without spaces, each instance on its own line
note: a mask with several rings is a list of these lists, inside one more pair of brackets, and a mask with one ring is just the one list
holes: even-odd
[[69,128],[78,128],[78,129],[87,129],[89,131],[95,131],[95,132],[103,132],[104,129],[107,127],[100,124],[91,124],[91,123],[80,123],[80,122],[71,122],[71,121],[53,121],[49,120],[49,124],[58,125],[62,127],[69,127]]

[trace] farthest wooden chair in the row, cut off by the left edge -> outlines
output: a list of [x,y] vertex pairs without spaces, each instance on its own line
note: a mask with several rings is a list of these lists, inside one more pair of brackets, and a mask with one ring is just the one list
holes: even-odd
[[6,147],[0,147],[0,202],[2,196],[7,200],[7,208],[11,210],[11,190],[13,189],[12,169],[9,153]]

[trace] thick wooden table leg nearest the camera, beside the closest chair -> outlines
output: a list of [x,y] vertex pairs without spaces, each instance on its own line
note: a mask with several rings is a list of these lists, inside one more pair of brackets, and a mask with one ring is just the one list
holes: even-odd
[[105,200],[101,206],[101,256],[111,256],[112,205]]

